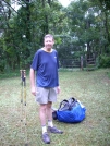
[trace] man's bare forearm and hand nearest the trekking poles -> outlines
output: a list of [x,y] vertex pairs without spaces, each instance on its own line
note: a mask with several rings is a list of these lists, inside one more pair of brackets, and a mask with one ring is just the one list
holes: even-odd
[[36,85],[35,85],[35,70],[30,68],[30,90],[34,96],[36,96]]

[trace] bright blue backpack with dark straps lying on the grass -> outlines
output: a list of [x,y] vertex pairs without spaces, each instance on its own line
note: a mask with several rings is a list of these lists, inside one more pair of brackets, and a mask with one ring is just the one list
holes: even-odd
[[78,123],[86,117],[86,108],[75,98],[64,99],[58,110],[52,112],[52,118],[65,123]]

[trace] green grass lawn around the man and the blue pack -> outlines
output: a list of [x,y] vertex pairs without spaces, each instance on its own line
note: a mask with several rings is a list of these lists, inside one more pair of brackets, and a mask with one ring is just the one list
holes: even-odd
[[[61,93],[58,102],[75,97],[86,107],[86,119],[77,124],[53,121],[64,134],[51,134],[50,146],[110,146],[110,69],[96,71],[60,71]],[[21,124],[21,77],[0,80],[0,146],[45,146],[38,117],[38,104],[27,90],[27,131]],[[23,111],[25,108],[23,108]],[[23,113],[23,118],[24,118]],[[24,120],[23,120],[24,121]],[[22,129],[21,129],[22,127]]]

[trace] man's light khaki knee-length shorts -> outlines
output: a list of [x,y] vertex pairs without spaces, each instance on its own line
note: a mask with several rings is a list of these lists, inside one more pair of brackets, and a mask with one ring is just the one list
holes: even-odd
[[57,87],[53,88],[36,88],[36,101],[39,104],[48,104],[48,101],[57,101]]

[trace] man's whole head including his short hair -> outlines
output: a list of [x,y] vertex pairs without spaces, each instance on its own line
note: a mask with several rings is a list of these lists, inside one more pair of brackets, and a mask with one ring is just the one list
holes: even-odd
[[52,47],[53,47],[53,44],[54,44],[54,39],[53,39],[53,36],[48,34],[44,37],[44,44],[45,44],[45,48],[47,50],[50,50]]

